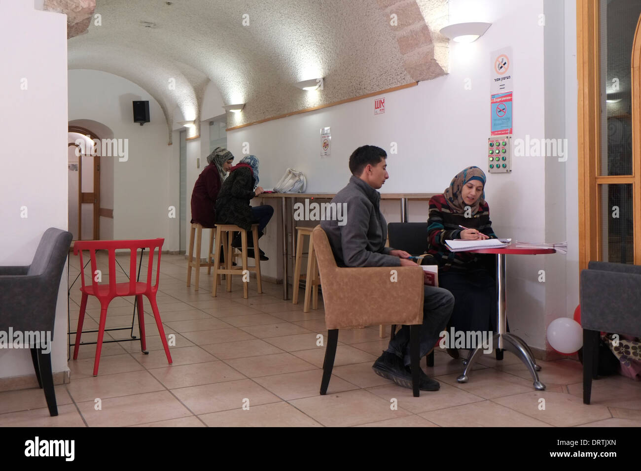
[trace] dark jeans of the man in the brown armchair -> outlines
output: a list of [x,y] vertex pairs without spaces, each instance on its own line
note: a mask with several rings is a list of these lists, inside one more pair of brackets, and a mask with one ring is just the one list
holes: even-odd
[[[443,288],[424,286],[423,325],[420,326],[419,358],[434,348],[440,333],[445,330],[454,308],[454,296]],[[387,352],[403,358],[404,365],[410,365],[410,327],[403,326],[387,347]]]

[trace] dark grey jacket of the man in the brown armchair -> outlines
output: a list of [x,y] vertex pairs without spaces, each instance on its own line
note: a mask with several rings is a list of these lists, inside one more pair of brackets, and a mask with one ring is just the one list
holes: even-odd
[[[399,267],[401,259],[390,255],[387,222],[379,209],[381,194],[362,179],[351,176],[347,186],[331,200],[344,206],[344,226],[337,220],[324,220],[320,227],[327,233],[336,263],[342,267]],[[345,207],[345,206],[344,206]]]

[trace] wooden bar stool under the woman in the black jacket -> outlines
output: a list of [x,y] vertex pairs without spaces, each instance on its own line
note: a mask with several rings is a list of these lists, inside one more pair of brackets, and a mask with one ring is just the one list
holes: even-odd
[[[254,267],[247,267],[247,231],[242,229],[234,224],[216,224],[216,240],[224,240],[226,242],[227,250],[225,251],[225,267],[224,269],[219,268],[221,264],[221,251],[217,251],[214,254],[213,262],[213,286],[212,286],[212,297],[216,297],[218,284],[216,283],[217,277],[221,274],[226,275],[227,279],[227,291],[231,291],[231,276],[240,275],[244,276],[246,272],[255,272],[256,273],[256,285],[258,285],[258,293],[263,292],[262,285],[260,283],[260,249],[258,249],[258,224],[251,225],[251,231],[254,240],[254,259],[256,265]],[[231,265],[231,259],[235,258],[233,256],[234,247],[231,247],[231,242],[233,240],[233,233],[240,232],[240,240],[242,245],[240,248],[240,254],[242,258],[242,267],[233,267]],[[231,275],[231,276],[230,276]],[[248,274],[247,274],[248,275]],[[245,281],[242,285],[243,288],[243,297],[247,299],[247,285],[249,281]]]

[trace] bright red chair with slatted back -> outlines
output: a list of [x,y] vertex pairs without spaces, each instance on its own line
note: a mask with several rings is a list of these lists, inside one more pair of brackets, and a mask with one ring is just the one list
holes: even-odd
[[[162,251],[162,244],[165,242],[163,238],[149,239],[149,240],[79,240],[74,243],[74,255],[80,256],[80,279],[82,286],[82,301],[80,303],[80,314],[78,317],[78,329],[76,330],[76,346],[74,347],[74,359],[78,359],[78,349],[80,346],[80,336],[82,335],[82,324],[85,320],[85,308],[87,308],[87,298],[89,296],[96,296],[100,301],[100,323],[98,327],[98,338],[96,345],[96,360],[94,361],[94,376],[98,374],[98,365],[100,363],[100,353],[103,348],[103,335],[104,324],[107,320],[107,308],[113,298],[119,296],[135,296],[138,306],[138,325],[140,326],[140,343],[142,344],[143,351],[147,349],[145,340],[145,320],[144,311],[142,309],[142,295],[146,295],[151,303],[151,309],[154,311],[156,318],[156,326],[158,326],[158,333],[162,340],[163,347],[165,347],[165,354],[167,354],[167,361],[171,364],[171,354],[169,353],[169,345],[167,345],[167,338],[165,338],[165,330],[160,320],[160,313],[158,312],[158,304],[156,304],[156,293],[158,292],[158,280],[160,279],[160,252]],[[116,283],[116,259],[115,251],[121,249],[129,249],[129,281],[124,283]],[[138,249],[149,249],[147,261],[147,281],[136,281],[136,258]],[[152,268],[154,265],[154,252],[158,249],[158,260],[156,261],[156,283],[152,286]],[[109,253],[109,283],[100,284],[96,281],[96,251],[106,250]],[[88,251],[91,258],[91,286],[85,286],[85,264],[83,263],[82,251]],[[141,269],[142,270],[142,269]]]

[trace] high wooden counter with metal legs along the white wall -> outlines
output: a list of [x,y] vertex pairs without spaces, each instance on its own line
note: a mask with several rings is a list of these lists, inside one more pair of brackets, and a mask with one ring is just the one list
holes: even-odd
[[[401,204],[401,222],[408,219],[408,203],[412,201],[429,201],[431,197],[438,193],[381,193],[382,200],[399,200]],[[281,201],[280,224],[283,233],[283,299],[289,299],[288,286],[288,254],[290,236],[289,231],[293,232],[294,228],[294,211],[293,204],[295,199],[332,199],[335,193],[262,193],[258,197],[265,199],[279,199]],[[425,212],[425,218],[428,217],[428,211]],[[296,237],[292,233],[292,254],[296,253]],[[292,287],[297,288],[297,287]]]

